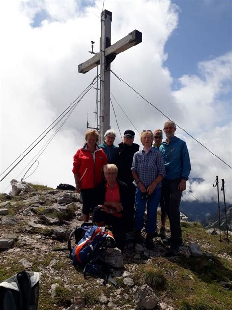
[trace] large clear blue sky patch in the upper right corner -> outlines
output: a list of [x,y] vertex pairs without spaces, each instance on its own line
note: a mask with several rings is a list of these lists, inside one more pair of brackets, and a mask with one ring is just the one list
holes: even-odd
[[198,75],[197,63],[232,50],[231,0],[173,0],[180,8],[177,29],[165,45],[173,78]]

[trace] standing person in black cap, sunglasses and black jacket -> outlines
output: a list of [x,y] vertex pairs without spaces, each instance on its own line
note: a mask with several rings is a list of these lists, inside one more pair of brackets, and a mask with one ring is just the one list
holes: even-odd
[[128,185],[128,212],[126,214],[126,229],[128,232],[134,229],[134,215],[135,215],[135,190],[136,187],[133,184],[134,178],[131,172],[132,160],[134,154],[139,151],[139,145],[133,143],[135,138],[135,132],[132,130],[126,130],[124,132],[124,142],[119,144],[117,167],[118,167],[118,179],[125,182]]

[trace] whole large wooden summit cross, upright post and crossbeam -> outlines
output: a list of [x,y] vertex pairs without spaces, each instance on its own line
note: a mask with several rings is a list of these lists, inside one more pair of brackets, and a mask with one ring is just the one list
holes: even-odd
[[142,42],[142,33],[138,30],[130,32],[123,39],[111,45],[112,13],[104,10],[101,13],[100,52],[79,64],[78,72],[86,73],[100,64],[100,143],[104,141],[104,133],[110,129],[110,63],[116,55]]

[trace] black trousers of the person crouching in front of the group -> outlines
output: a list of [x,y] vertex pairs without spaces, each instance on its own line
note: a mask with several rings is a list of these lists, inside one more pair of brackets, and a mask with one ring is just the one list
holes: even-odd
[[93,211],[93,219],[96,223],[104,221],[105,224],[111,225],[116,247],[119,249],[124,247],[126,242],[126,228],[123,217],[116,217],[114,215],[108,214],[97,206]]

